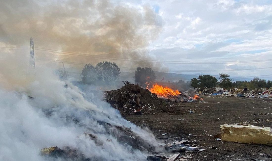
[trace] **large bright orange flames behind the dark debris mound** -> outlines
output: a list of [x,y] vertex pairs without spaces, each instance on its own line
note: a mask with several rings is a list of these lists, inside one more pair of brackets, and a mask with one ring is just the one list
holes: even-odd
[[[149,89],[147,87],[147,89]],[[169,87],[162,87],[160,85],[153,84],[152,88],[149,89],[152,93],[155,93],[158,96],[161,97],[165,97],[165,98],[169,98],[169,96],[178,96],[179,94],[181,94],[178,90],[172,90]]]

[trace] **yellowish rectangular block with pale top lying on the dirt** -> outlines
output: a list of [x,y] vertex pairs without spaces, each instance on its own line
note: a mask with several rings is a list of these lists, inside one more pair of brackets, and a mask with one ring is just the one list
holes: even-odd
[[220,129],[222,141],[272,145],[271,127],[224,124]]

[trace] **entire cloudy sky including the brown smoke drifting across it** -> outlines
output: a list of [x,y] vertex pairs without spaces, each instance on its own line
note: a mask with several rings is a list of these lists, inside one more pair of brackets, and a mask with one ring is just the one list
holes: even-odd
[[[162,71],[215,75],[225,72],[232,77],[271,74],[270,0],[0,2],[5,4],[2,5],[5,10],[2,8],[0,11],[0,14],[4,14],[0,16],[2,48],[26,47],[28,36],[32,35],[36,47],[95,55],[116,52],[122,53],[120,59],[127,58],[123,53],[130,52],[129,58],[151,60],[150,63],[156,63],[154,68]],[[21,10],[20,13],[16,12],[16,8]],[[31,14],[26,14],[29,9]],[[76,14],[71,14],[73,12]],[[51,19],[53,14],[57,18]],[[71,19],[76,21],[72,22]],[[25,27],[30,23],[36,24],[35,27]],[[95,32],[91,33],[90,30]],[[118,31],[118,34],[104,34],[106,31]],[[25,39],[26,42],[18,43]],[[95,40],[97,42],[93,43]],[[46,58],[56,60],[63,57],[55,55]],[[80,58],[64,60],[86,63],[81,62],[85,59]],[[122,69],[129,69],[129,63]]]

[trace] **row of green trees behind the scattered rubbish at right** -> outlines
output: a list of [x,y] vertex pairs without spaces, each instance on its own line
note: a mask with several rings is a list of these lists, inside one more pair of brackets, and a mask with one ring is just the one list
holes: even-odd
[[215,87],[220,86],[222,88],[249,88],[249,89],[259,89],[259,88],[270,88],[272,87],[272,81],[263,80],[255,77],[252,81],[236,81],[232,82],[230,75],[225,73],[219,74],[220,81],[211,75],[200,75],[198,78],[191,79],[191,86],[196,87]]

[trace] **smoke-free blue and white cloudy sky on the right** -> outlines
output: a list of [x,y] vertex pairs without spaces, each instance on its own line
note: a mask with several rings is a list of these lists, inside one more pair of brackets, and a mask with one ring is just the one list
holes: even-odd
[[[248,0],[157,2],[154,9],[162,16],[163,31],[149,46],[151,53],[159,60],[234,62],[168,64],[176,70],[272,67],[271,61],[241,63],[272,59],[271,4],[272,1]],[[271,68],[224,72],[256,76],[271,74],[270,71]],[[203,73],[218,74],[218,71]]]

